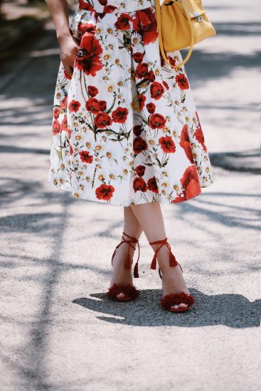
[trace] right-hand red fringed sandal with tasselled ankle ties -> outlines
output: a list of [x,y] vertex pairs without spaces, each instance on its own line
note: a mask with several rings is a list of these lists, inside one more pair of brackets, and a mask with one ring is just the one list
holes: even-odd
[[[177,264],[179,264],[179,262],[176,261],[175,256],[171,252],[171,246],[169,245],[167,238],[165,238],[163,240],[156,240],[156,242],[150,242],[149,244],[150,245],[159,245],[156,247],[156,252],[155,252],[154,257],[151,262],[151,269],[154,269],[154,270],[156,269],[156,255],[159,252],[159,250],[161,249],[161,247],[163,247],[164,245],[166,245],[166,247],[168,247],[168,249],[169,249],[169,266],[175,267]],[[179,264],[179,267],[181,267],[180,264]],[[182,267],[181,267],[181,271],[183,272]],[[160,269],[159,269],[159,277],[161,277]],[[161,279],[162,279],[162,277],[161,277]],[[161,306],[163,306],[164,309],[167,309],[171,312],[188,311],[188,309],[192,306],[192,304],[194,304],[194,302],[195,302],[194,297],[191,296],[190,294],[186,294],[184,291],[182,291],[178,294],[166,294],[160,300]],[[177,309],[172,308],[173,306],[179,305],[181,303],[187,304],[187,306],[182,307],[182,308],[179,307]]]

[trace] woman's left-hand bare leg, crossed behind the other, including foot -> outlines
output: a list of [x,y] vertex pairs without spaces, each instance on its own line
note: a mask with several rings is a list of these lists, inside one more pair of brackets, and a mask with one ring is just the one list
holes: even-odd
[[[127,235],[136,237],[139,239],[142,234],[142,227],[139,225],[137,218],[135,217],[132,208],[130,206],[124,206],[124,227],[123,231],[127,233]],[[122,235],[125,239],[129,239],[129,237]],[[132,243],[134,247],[136,247],[135,243]],[[129,248],[127,243],[122,243],[117,249],[116,254],[114,255],[112,261],[113,274],[110,282],[110,286],[112,284],[132,284],[132,271],[128,269],[124,269],[124,259],[127,256],[128,252],[131,257],[134,256],[134,249],[132,247]],[[118,294],[117,297],[122,298],[125,295],[123,293]]]

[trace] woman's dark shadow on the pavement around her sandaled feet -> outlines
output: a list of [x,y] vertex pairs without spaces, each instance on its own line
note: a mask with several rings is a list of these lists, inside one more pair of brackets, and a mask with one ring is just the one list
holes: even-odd
[[135,301],[124,303],[112,301],[104,293],[90,294],[95,299],[82,297],[73,303],[102,313],[96,316],[102,321],[130,326],[260,327],[261,300],[251,302],[241,294],[207,295],[198,289],[190,292],[196,304],[180,314],[172,314],[159,305],[159,289],[144,289]]

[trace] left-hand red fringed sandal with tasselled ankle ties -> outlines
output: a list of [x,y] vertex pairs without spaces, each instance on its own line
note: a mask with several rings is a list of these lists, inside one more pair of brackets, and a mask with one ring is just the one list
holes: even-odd
[[[137,243],[138,245],[138,251],[139,251],[139,240],[136,239],[136,237],[132,237],[127,235],[125,232],[123,234],[127,237],[129,237],[129,240],[126,240],[122,236],[122,242],[119,243],[119,245],[116,246],[114,253],[112,254],[112,259],[114,255],[117,252],[117,249],[119,248],[122,243],[128,243],[129,249],[130,247],[134,248],[134,245],[132,243]],[[127,258],[124,260],[124,268],[125,269],[132,269],[132,262],[133,259],[131,259],[130,254],[128,253]],[[134,267],[134,278],[139,278],[139,271],[138,271],[138,262],[139,262],[139,253],[138,253],[138,259]],[[123,293],[125,296],[122,298],[117,297],[118,294]],[[139,289],[137,289],[134,285],[132,284],[113,284],[107,291],[106,295],[110,297],[112,300],[117,300],[117,301],[129,301],[132,299],[136,299],[136,297],[139,295]]]

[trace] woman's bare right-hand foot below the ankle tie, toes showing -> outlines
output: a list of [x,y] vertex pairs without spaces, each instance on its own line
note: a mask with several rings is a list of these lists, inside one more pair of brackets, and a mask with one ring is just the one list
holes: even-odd
[[[162,291],[163,296],[166,294],[177,294],[181,291],[189,294],[186,282],[183,279],[183,273],[179,264],[176,267],[169,266],[169,249],[164,246],[158,252],[159,269],[162,274]],[[181,303],[179,305],[171,306],[171,308],[179,309],[186,308],[188,304]]]

